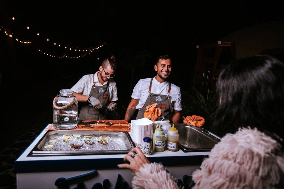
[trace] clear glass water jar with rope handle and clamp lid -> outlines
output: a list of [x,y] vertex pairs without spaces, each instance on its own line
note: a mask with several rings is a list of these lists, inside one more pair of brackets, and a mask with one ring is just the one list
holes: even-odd
[[53,126],[72,129],[78,122],[78,100],[70,89],[61,89],[53,100]]

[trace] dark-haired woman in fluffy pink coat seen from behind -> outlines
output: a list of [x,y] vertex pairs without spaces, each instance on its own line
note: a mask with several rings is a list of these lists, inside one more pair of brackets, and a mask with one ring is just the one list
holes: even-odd
[[[228,134],[193,172],[194,188],[284,187],[283,81],[284,64],[269,56],[243,58],[222,70],[214,127]],[[124,158],[130,164],[119,165],[135,172],[133,188],[178,188],[161,164],[150,163],[138,148],[133,152]],[[151,179],[156,176],[162,183]]]

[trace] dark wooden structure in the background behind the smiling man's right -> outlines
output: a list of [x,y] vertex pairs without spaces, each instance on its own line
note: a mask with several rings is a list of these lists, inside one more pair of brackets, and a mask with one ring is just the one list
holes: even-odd
[[197,45],[198,56],[193,79],[193,87],[200,92],[215,90],[215,83],[222,68],[236,60],[235,44],[218,41],[205,45]]

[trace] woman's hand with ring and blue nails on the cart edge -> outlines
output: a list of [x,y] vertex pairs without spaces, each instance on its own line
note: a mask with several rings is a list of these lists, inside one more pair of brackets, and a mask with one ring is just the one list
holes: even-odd
[[150,163],[149,159],[143,154],[140,148],[137,147],[133,148],[132,151],[128,152],[128,154],[123,158],[123,160],[125,162],[130,162],[130,164],[120,164],[118,165],[118,167],[130,169],[134,173],[140,172],[140,167],[144,167],[144,164]]

